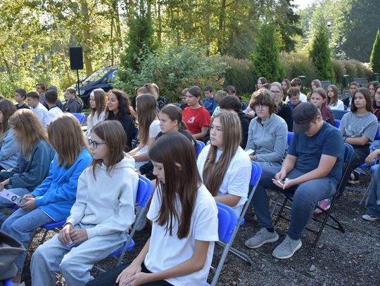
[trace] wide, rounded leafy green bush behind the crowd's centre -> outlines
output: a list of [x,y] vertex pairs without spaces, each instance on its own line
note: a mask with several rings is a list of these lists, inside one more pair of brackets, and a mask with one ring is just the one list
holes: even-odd
[[115,87],[134,93],[134,89],[147,82],[154,82],[160,87],[160,95],[171,102],[178,102],[181,91],[186,87],[198,85],[201,88],[211,84],[220,89],[223,83],[226,63],[213,63],[214,58],[205,57],[205,50],[191,43],[183,46],[170,46],[160,49],[155,54],[147,53],[139,59],[140,71],[120,66],[123,81],[115,82]]

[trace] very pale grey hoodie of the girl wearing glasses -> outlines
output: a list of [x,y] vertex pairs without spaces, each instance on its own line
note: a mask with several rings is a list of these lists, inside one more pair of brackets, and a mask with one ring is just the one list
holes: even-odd
[[83,171],[78,180],[77,199],[71,208],[67,223],[93,225],[86,228],[88,238],[123,233],[134,222],[139,177],[134,171],[134,159],[125,154],[110,174],[101,164]]

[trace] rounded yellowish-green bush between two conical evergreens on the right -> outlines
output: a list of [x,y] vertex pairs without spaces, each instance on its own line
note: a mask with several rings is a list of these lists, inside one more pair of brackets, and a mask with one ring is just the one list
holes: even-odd
[[317,79],[317,70],[312,64],[308,56],[302,53],[283,53],[281,54],[281,62],[284,64],[286,70],[286,78],[293,79],[304,75],[305,86],[310,86],[313,79]]

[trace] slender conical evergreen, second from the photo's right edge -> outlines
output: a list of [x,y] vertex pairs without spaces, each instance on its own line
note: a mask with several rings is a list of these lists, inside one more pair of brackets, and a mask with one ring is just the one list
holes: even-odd
[[331,60],[331,49],[327,36],[327,27],[322,24],[312,41],[309,56],[317,69],[318,79],[334,80],[334,70]]

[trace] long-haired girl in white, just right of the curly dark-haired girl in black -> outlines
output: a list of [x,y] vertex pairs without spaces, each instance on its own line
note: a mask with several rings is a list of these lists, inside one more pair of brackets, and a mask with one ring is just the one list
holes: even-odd
[[139,146],[129,155],[134,157],[136,168],[148,162],[148,151],[160,133],[160,121],[156,108],[156,99],[151,94],[137,96],[137,118],[139,119]]

